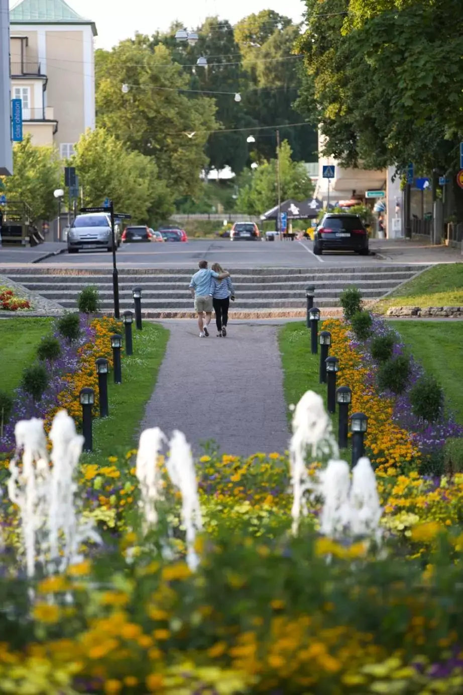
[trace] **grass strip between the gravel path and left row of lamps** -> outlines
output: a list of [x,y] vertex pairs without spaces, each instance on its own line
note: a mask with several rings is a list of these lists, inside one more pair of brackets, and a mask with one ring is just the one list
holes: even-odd
[[109,375],[109,416],[94,419],[94,451],[83,455],[84,462],[94,463],[109,456],[120,459],[137,444],[144,408],[153,393],[168,338],[167,329],[146,321],[141,332],[133,332],[133,355],[123,357],[122,384],[114,384],[112,373]]

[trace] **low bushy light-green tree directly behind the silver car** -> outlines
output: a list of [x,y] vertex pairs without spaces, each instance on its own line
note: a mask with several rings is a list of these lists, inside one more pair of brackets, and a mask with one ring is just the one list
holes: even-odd
[[154,224],[173,211],[173,193],[160,179],[154,159],[126,149],[102,128],[87,131],[76,145],[76,167],[85,206],[98,206],[110,197],[118,212],[132,221]]

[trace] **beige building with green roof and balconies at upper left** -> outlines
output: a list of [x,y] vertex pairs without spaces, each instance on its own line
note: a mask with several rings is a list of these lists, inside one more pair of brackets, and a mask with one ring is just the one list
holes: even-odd
[[21,0],[10,10],[11,99],[24,133],[67,158],[95,126],[96,26],[64,0]]

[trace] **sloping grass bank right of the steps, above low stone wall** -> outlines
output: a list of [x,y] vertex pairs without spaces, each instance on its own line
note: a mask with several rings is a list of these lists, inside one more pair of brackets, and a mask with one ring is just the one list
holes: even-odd
[[375,304],[373,311],[385,313],[389,306],[463,306],[463,263],[433,265]]

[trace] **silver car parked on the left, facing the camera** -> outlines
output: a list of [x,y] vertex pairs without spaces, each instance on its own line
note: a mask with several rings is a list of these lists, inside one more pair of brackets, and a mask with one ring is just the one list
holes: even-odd
[[[121,245],[121,231],[115,224],[116,247]],[[76,254],[81,249],[106,249],[112,251],[110,216],[106,213],[78,215],[67,233],[67,251]]]

